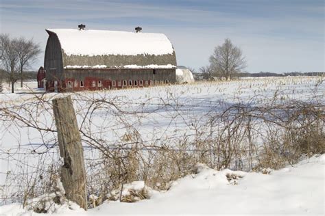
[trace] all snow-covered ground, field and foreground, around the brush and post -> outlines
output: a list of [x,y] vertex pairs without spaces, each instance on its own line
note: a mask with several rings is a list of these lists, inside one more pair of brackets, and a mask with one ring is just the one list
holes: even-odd
[[[51,102],[52,98],[71,95],[81,131],[91,132],[95,139],[103,141],[102,144],[106,146],[128,144],[130,148],[139,142],[146,148],[175,146],[181,138],[193,141],[199,135],[200,139],[207,140],[213,137],[211,130],[217,130],[222,125],[212,124],[211,119],[234,105],[268,107],[300,101],[322,105],[320,109],[323,111],[325,105],[325,81],[322,77],[243,79],[45,95],[36,89],[36,82],[32,82],[23,89],[17,89],[15,94],[9,92],[9,89],[5,89],[4,94],[0,94],[0,111],[1,108],[15,111],[15,115],[23,120],[31,120],[32,124],[27,126],[17,118],[0,118],[2,203],[19,200],[8,198],[8,195],[14,193],[16,186],[21,186],[18,182],[28,185],[30,179],[23,176],[60,164],[56,133],[52,132],[55,124],[51,103],[39,103],[40,99]],[[96,102],[96,107],[91,107],[93,102]],[[258,130],[261,132],[264,128],[260,126]],[[98,159],[98,154],[89,149],[86,139],[84,146],[86,166],[89,168],[93,160]],[[191,150],[199,147],[191,146]],[[232,168],[236,169],[235,166]],[[237,185],[234,185],[233,180],[227,180],[227,173],[239,174],[243,178],[239,178]],[[8,178],[13,182],[8,182]],[[41,184],[39,180],[38,185]],[[152,192],[149,200],[132,204],[104,203],[87,214],[324,215],[323,206],[324,155],[305,159],[293,167],[268,175],[202,168],[198,174],[177,180],[167,192]],[[0,207],[0,214],[4,215],[23,212],[19,204]],[[86,214],[80,209],[71,211],[65,207],[58,212],[65,215]]]

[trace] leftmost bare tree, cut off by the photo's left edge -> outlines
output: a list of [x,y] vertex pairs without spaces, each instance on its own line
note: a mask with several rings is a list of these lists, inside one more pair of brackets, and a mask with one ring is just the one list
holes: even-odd
[[7,34],[1,34],[0,44],[3,49],[1,65],[8,73],[8,82],[11,83],[11,92],[14,93],[14,83],[18,80],[16,73],[19,62],[19,55],[16,52],[17,40],[11,40]]

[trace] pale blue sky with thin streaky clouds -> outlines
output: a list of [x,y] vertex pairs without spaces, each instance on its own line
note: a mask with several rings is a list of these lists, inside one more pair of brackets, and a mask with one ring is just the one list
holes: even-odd
[[43,53],[47,28],[165,33],[178,65],[199,70],[226,38],[247,72],[325,71],[324,0],[0,0],[0,30],[33,38]]

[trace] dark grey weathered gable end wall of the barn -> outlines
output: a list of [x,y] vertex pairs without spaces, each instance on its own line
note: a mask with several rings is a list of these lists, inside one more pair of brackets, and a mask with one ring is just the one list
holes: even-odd
[[45,49],[44,68],[47,81],[62,80],[63,62],[60,41],[55,33],[48,31],[49,38]]

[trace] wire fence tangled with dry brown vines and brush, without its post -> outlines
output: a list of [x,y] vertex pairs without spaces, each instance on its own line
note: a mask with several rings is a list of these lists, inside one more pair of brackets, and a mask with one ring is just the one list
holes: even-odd
[[[88,195],[104,197],[134,180],[168,189],[196,163],[217,170],[278,169],[302,154],[324,153],[325,103],[315,92],[305,101],[277,92],[236,103],[167,95],[139,102],[106,93],[73,94]],[[0,106],[2,204],[47,193],[60,176],[55,96],[35,94]]]

